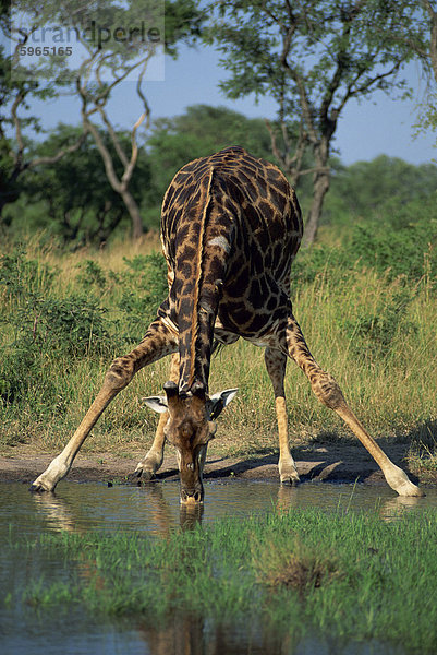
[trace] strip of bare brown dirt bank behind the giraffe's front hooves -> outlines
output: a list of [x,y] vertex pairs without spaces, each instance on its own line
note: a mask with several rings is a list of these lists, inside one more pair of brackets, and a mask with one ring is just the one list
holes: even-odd
[[[409,471],[405,455],[408,444],[383,444],[389,457],[401,466],[414,483],[435,485],[437,477]],[[353,442],[317,443],[301,445],[292,449],[301,479],[354,483],[355,480],[379,485],[385,484],[384,476],[361,444]],[[0,481],[20,481],[31,484],[53,456],[58,453],[38,453],[35,445],[16,445],[4,448],[0,454]],[[129,456],[110,452],[78,453],[65,479],[71,481],[118,481],[129,483],[130,474],[137,462],[144,456],[144,451],[132,450]],[[223,457],[215,454],[214,449],[208,453],[205,465],[205,479],[214,478],[245,478],[245,479],[278,479],[278,455],[247,455]],[[178,478],[175,456],[168,448],[163,465],[157,474],[157,479]]]

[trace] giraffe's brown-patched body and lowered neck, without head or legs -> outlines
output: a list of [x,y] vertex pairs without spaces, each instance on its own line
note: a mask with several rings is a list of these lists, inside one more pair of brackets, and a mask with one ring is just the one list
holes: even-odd
[[181,388],[207,384],[215,329],[257,338],[283,314],[301,238],[298,200],[275,165],[232,146],[177,172],[162,203],[160,313],[179,330]]

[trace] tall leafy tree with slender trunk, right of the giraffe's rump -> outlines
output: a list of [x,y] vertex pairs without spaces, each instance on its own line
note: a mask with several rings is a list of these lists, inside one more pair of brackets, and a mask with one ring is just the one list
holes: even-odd
[[[275,155],[294,183],[313,176],[305,226],[311,245],[344,107],[375,91],[409,92],[401,72],[416,52],[397,35],[408,31],[426,47],[425,22],[413,0],[222,0],[217,7],[207,39],[217,44],[230,73],[223,91],[233,98],[271,96],[278,105],[269,126]],[[314,165],[303,168],[307,148]]]

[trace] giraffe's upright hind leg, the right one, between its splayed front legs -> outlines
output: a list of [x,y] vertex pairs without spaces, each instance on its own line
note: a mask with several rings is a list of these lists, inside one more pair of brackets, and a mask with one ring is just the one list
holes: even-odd
[[275,392],[275,408],[279,433],[279,476],[282,484],[295,486],[299,484],[300,478],[290,452],[286,392],[283,386],[287,356],[280,350],[266,348],[264,359]]

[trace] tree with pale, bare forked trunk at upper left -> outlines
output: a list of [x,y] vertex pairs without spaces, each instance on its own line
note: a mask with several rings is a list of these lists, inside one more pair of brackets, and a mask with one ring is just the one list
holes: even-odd
[[[163,8],[163,2],[155,0],[129,0],[122,4],[116,0],[90,4],[83,0],[47,0],[44,4],[37,0],[16,0],[13,5],[14,11],[22,10],[28,17],[25,28],[15,28],[19,51],[20,48],[26,51],[25,46],[32,35],[38,34],[41,40],[41,35],[52,34],[53,29],[58,29],[62,43],[66,39],[71,44],[68,47],[53,46],[52,49],[32,48],[32,56],[39,57],[41,50],[47,49],[51,71],[56,71],[56,76],[49,79],[54,86],[62,85],[78,96],[83,135],[89,133],[93,136],[109,183],[120,194],[131,216],[134,238],[143,233],[141,212],[131,192],[138,156],[137,131],[142,123],[149,127],[150,119],[144,93],[145,75],[157,53],[163,56],[166,50],[175,57],[177,44],[191,43],[198,35],[202,23],[202,14],[194,0],[169,0],[166,3],[166,24]],[[70,60],[69,56],[72,56]],[[35,84],[40,78],[39,68],[34,63],[28,69],[27,79]],[[128,79],[134,79],[141,104],[129,144],[120,141],[109,111],[113,90]],[[102,139],[102,127],[109,142]]]

